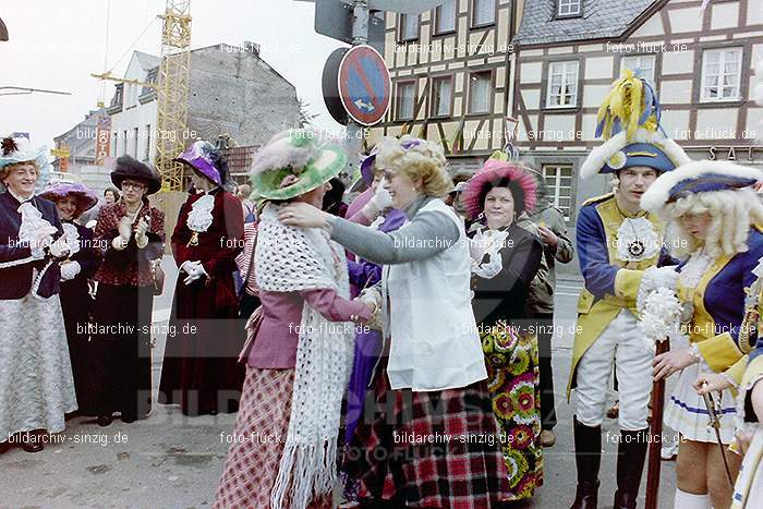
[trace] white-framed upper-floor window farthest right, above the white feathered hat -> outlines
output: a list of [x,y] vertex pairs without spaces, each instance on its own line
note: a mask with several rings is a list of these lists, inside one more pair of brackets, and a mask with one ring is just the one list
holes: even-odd
[[702,52],[700,100],[724,101],[741,98],[742,48],[706,49]]

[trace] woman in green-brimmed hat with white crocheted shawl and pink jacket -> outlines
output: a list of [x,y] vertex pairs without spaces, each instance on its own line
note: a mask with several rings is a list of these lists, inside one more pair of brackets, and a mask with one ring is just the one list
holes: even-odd
[[[341,404],[355,327],[373,306],[349,300],[344,250],[323,230],[286,226],[290,203],[323,204],[347,156],[318,134],[277,134],[252,166],[263,211],[239,415],[215,507],[332,507]],[[249,347],[249,344],[252,344]]]

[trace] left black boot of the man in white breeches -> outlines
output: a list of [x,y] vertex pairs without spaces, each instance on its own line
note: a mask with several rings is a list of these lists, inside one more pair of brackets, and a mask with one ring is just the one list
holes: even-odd
[[574,463],[578,488],[571,509],[596,509],[598,506],[598,469],[602,464],[602,426],[586,426],[574,421]]

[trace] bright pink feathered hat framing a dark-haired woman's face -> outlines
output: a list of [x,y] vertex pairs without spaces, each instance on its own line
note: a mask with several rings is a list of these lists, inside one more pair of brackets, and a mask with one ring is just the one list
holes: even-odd
[[483,195],[491,183],[509,180],[522,190],[524,195],[523,210],[531,213],[537,203],[537,184],[529,169],[517,162],[488,159],[480,171],[469,180],[469,186],[461,195],[461,203],[472,218],[482,214],[485,204]]

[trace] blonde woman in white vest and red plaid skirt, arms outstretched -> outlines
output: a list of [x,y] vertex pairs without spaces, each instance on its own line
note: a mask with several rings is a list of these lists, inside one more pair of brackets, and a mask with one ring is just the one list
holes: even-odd
[[280,210],[287,225],[329,231],[385,265],[375,405],[366,405],[346,470],[373,507],[489,507],[510,497],[509,472],[471,306],[469,241],[463,220],[441,199],[452,189],[445,155],[433,142],[388,137],[375,163],[392,206],[408,217],[396,231],[310,204]]

